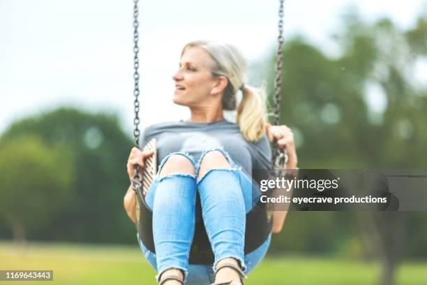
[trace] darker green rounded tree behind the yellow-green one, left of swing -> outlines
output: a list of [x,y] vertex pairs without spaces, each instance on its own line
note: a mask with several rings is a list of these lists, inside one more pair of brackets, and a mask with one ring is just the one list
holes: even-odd
[[49,149],[63,147],[73,159],[73,185],[66,205],[46,228],[34,228],[31,238],[76,242],[135,242],[135,228],[123,211],[129,180],[126,160],[130,138],[116,116],[90,114],[71,108],[27,117],[12,124],[2,138],[15,141],[23,134],[38,136]]

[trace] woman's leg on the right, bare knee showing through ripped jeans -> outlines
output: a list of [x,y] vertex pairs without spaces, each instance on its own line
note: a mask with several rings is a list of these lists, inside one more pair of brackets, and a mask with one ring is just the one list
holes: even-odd
[[[215,262],[234,263],[246,271],[244,242],[246,210],[244,197],[230,157],[222,149],[213,149],[200,158],[197,171],[197,189],[200,193],[202,217],[211,242]],[[233,279],[239,283],[234,270],[224,268],[216,281]]]

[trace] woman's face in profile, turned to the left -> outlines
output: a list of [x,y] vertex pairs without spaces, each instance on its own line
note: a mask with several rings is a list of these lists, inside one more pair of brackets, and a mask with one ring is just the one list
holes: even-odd
[[174,103],[188,107],[209,105],[218,78],[213,78],[209,66],[213,59],[201,47],[189,47],[179,61],[179,69],[173,76],[175,81]]

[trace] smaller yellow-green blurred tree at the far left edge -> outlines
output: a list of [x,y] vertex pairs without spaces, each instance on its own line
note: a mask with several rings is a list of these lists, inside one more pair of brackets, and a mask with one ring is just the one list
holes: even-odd
[[73,161],[63,148],[50,148],[37,136],[0,141],[0,213],[23,243],[29,228],[45,228],[67,202]]

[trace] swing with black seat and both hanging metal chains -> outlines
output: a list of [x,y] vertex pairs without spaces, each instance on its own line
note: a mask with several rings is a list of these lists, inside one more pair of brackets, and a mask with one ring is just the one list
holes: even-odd
[[[284,0],[279,0],[280,6],[278,10],[278,50],[276,54],[276,80],[274,82],[275,92],[274,92],[274,114],[273,114],[273,123],[275,125],[279,124],[280,119],[280,86],[282,79],[282,45],[283,45],[283,3]],[[140,60],[138,58],[139,47],[139,33],[138,33],[138,3],[139,0],[134,0],[133,7],[133,52],[134,52],[134,110],[135,117],[133,123],[135,129],[133,130],[133,137],[135,141],[135,147],[140,147],[140,129],[138,126],[140,124],[140,73],[138,71],[140,66]],[[152,140],[144,146],[144,150],[147,149],[156,149],[156,142]],[[271,153],[271,164],[274,170],[284,169],[287,163],[287,154],[285,150],[279,149],[277,147],[276,141],[273,142],[272,153]],[[152,228],[152,219],[153,212],[147,206],[145,202],[145,195],[149,189],[149,186],[153,180],[154,175],[156,174],[156,156],[153,155],[145,161],[144,173],[140,174],[139,166],[136,166],[135,173],[132,177],[131,187],[136,192],[137,196],[137,206],[136,206],[136,228],[138,237],[142,241],[145,247],[151,252],[156,253],[153,240],[153,228]],[[196,207],[200,207],[200,198],[197,195],[196,198]],[[267,205],[262,203],[261,200],[258,200],[257,204],[253,207],[250,212],[246,214],[246,231],[245,231],[245,247],[244,254],[248,254],[251,251],[260,247],[260,245],[268,238],[269,233],[271,233],[271,227],[273,224],[273,219],[271,219],[271,212],[267,211]],[[195,233],[193,238],[193,244],[190,248],[189,263],[191,264],[212,264],[214,261],[213,251],[211,249],[211,244],[207,236],[206,229],[204,228],[203,220],[195,224]]]

